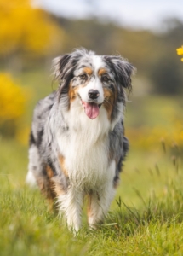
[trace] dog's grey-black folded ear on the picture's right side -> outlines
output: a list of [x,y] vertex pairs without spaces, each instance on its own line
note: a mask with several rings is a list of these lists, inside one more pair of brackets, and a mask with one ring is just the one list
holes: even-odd
[[136,68],[128,61],[123,60],[121,56],[106,56],[106,61],[115,74],[117,84],[132,90],[131,76],[135,73]]

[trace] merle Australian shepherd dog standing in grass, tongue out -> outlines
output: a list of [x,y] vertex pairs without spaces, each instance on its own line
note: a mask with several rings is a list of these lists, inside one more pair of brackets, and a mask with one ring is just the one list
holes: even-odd
[[34,110],[26,182],[56,203],[70,230],[81,227],[84,197],[91,228],[111,205],[129,149],[123,113],[133,73],[121,56],[86,49],[54,59],[59,87]]

